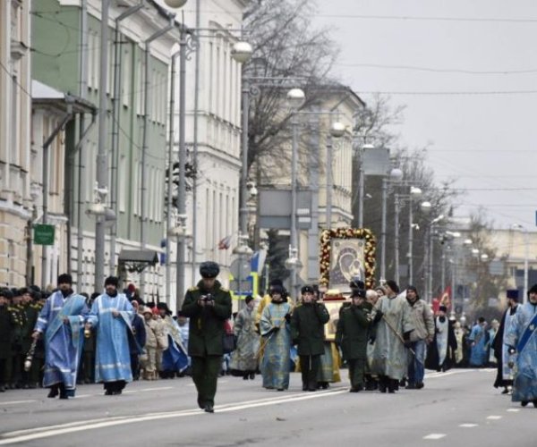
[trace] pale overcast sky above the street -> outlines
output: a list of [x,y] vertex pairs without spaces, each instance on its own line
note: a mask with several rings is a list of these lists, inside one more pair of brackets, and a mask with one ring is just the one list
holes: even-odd
[[537,1],[330,0],[313,23],[340,46],[343,83],[405,105],[392,131],[462,191],[456,216],[537,230]]

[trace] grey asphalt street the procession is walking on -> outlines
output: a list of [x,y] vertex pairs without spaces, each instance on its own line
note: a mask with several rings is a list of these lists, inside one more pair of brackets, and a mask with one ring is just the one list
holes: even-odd
[[196,407],[190,378],[136,382],[121,396],[83,385],[74,400],[45,390],[0,395],[0,445],[483,445],[534,446],[537,409],[525,409],[492,387],[495,371],[430,373],[425,388],[395,395],[349,393],[345,381],[302,392],[293,374],[287,392],[226,376],[214,414]]

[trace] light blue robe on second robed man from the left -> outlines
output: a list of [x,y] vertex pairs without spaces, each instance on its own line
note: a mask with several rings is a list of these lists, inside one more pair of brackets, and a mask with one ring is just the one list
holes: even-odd
[[[114,317],[116,310],[119,316]],[[127,331],[132,332],[134,309],[123,293],[114,298],[99,295],[91,306],[88,323],[97,329],[95,382],[132,382],[131,355]]]

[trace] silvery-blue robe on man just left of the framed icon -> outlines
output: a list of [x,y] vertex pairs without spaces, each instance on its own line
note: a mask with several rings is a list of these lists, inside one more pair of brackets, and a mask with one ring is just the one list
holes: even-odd
[[[264,345],[265,350],[260,370],[263,387],[269,390],[289,388],[291,328],[286,323],[285,316],[290,312],[291,305],[283,302],[268,304],[261,314],[261,346]],[[273,327],[280,329],[276,333],[268,333]]]

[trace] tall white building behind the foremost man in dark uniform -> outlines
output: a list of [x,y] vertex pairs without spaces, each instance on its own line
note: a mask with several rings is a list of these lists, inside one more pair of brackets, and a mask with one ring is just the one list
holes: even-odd
[[[187,243],[186,288],[199,281],[198,268],[205,260],[220,264],[219,279],[227,284],[232,249],[218,249],[218,242],[233,235],[232,247],[236,245],[239,224],[242,67],[234,61],[232,48],[241,38],[243,10],[248,2],[207,0],[200,3],[198,21],[196,2],[192,0],[183,6],[185,25],[194,31],[197,44],[186,66],[188,163],[194,162],[194,151],[198,155],[197,181],[195,184],[188,181],[192,190],[186,203],[186,224],[192,233],[192,240]],[[196,57],[199,58],[198,73]],[[178,104],[179,97],[176,99]],[[177,139],[178,129],[175,131],[178,145]]]

